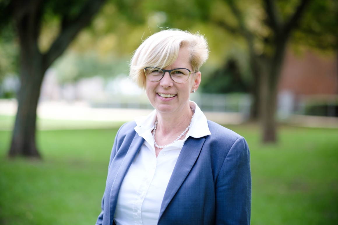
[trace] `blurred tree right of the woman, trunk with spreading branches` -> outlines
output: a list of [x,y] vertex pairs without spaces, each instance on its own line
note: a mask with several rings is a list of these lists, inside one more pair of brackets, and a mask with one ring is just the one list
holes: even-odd
[[235,25],[226,18],[212,20],[225,30],[239,34],[245,39],[253,77],[251,89],[254,106],[256,106],[253,113],[259,115],[262,122],[263,142],[274,143],[276,142],[277,84],[286,46],[310,0],[299,0],[298,3],[292,1],[291,5],[295,6],[291,13],[289,13],[290,2],[263,0],[263,16],[259,22],[261,26],[256,25],[256,27],[248,25],[248,18],[243,9],[248,9],[248,2],[242,8],[239,7],[238,1],[224,0],[224,2],[235,18]]

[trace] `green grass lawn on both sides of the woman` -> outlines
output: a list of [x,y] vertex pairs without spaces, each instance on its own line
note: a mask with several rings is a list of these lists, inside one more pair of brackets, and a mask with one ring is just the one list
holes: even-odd
[[[256,125],[227,127],[250,147],[251,224],[338,224],[338,129],[282,126],[263,146]],[[39,131],[43,161],[7,159],[0,131],[0,224],[94,224],[116,131]]]

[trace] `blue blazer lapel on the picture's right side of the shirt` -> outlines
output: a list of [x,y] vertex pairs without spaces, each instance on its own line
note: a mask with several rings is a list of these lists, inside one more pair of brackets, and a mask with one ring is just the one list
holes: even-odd
[[190,137],[183,145],[164,193],[159,219],[194,166],[205,140],[205,138],[194,139]]

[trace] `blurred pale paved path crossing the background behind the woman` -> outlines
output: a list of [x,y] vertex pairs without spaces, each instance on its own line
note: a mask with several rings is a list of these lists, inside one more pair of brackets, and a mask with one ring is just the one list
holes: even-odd
[[[14,116],[16,110],[16,100],[0,100],[0,115]],[[152,109],[92,108],[86,102],[45,101],[39,103],[38,117],[60,122],[72,121],[72,123],[67,125],[67,128],[93,128],[96,126],[107,127],[112,122],[128,122],[134,120],[135,117],[146,116],[151,111]],[[241,124],[246,121],[245,117],[238,113],[204,112],[204,114],[209,120],[219,124]],[[78,122],[76,123],[76,121]],[[338,128],[338,118],[336,117],[293,115],[284,122],[295,126]],[[59,129],[63,125],[60,123],[59,126],[53,125],[52,127]]]

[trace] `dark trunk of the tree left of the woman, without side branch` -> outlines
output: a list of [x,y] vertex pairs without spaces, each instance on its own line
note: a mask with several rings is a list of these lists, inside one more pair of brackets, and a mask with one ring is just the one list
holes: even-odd
[[40,157],[35,146],[35,124],[40,87],[46,68],[38,48],[42,0],[13,1],[20,41],[20,91],[9,156]]

